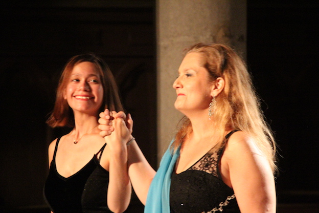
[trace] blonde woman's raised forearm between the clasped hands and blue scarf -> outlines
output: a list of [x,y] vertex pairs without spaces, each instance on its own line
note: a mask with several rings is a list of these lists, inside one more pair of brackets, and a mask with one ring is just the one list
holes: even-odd
[[156,172],[146,160],[136,141],[128,146],[128,165],[129,177],[134,191],[145,205],[148,189]]

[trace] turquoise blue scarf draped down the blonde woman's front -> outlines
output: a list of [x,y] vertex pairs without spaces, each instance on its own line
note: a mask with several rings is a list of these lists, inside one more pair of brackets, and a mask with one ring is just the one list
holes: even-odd
[[156,175],[148,190],[144,213],[170,212],[169,196],[171,187],[171,175],[175,166],[176,159],[179,157],[179,147],[174,154],[170,147],[171,145],[165,152],[161,163],[159,164]]

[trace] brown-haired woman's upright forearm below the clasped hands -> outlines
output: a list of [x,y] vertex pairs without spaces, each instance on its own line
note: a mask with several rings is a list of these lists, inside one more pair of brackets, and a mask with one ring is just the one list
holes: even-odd
[[109,161],[109,184],[107,190],[107,205],[113,212],[123,212],[131,198],[131,183],[127,171],[127,150],[111,151]]

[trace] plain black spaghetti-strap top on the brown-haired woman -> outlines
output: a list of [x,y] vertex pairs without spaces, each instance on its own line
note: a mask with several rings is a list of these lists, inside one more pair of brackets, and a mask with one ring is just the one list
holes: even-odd
[[[59,141],[60,138],[56,142],[49,175],[43,189],[44,199],[51,210],[54,213],[111,212],[106,203],[109,173],[100,165],[106,144],[79,172],[64,178],[57,172],[55,164]],[[101,154],[98,159],[99,153]]]

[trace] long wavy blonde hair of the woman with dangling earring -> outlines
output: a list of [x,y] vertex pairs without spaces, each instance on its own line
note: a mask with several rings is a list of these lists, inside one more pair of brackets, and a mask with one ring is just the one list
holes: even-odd
[[[209,81],[218,77],[225,80],[225,87],[216,96],[216,110],[213,115],[214,130],[220,136],[218,145],[227,131],[240,130],[253,138],[255,144],[264,153],[275,173],[276,142],[260,108],[260,99],[256,95],[252,78],[245,62],[230,47],[221,44],[196,44],[185,50],[188,53],[201,53],[203,66],[209,72]],[[181,145],[192,132],[190,120],[185,116],[179,122],[178,132],[172,146]]]

